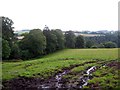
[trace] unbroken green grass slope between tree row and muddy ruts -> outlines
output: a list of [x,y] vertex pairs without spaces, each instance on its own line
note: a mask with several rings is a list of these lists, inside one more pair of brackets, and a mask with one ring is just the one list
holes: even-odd
[[3,62],[3,80],[18,76],[47,78],[64,67],[90,60],[113,60],[118,49],[66,49],[43,58],[23,62]]

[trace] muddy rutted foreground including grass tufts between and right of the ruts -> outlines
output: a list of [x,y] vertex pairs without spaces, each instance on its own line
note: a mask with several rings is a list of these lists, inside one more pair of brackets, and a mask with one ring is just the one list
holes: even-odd
[[4,81],[3,90],[114,89],[119,88],[118,71],[120,71],[120,62],[116,60],[91,61],[63,68],[47,79],[18,77]]

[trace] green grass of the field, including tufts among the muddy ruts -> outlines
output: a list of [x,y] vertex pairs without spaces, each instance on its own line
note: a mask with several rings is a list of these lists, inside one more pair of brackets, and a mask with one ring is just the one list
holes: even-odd
[[[6,81],[22,76],[47,79],[50,76],[54,76],[57,72],[62,71],[64,68],[70,67],[71,65],[81,64],[78,67],[72,68],[69,74],[63,76],[66,80],[70,79],[71,81],[80,77],[82,75],[82,71],[86,70],[88,67],[93,65],[99,67],[103,63],[117,60],[118,49],[65,49],[46,55],[40,59],[20,62],[2,62],[2,79],[3,81]],[[106,74],[105,76],[103,75],[102,69],[103,72],[107,71],[107,73],[109,73],[107,74],[108,76],[106,76]],[[89,81],[89,86],[85,86],[85,88],[92,87],[92,84],[96,82],[99,82],[98,86],[108,83],[105,82],[105,80],[100,83],[100,79],[97,80],[96,77],[113,79],[115,83],[109,81],[110,85],[113,86],[118,84],[116,82],[118,79],[118,70],[111,74],[111,70],[115,70],[115,68],[110,68],[109,70],[107,66],[102,69],[98,69],[93,73],[95,78],[91,79]],[[112,76],[116,77],[112,78]]]

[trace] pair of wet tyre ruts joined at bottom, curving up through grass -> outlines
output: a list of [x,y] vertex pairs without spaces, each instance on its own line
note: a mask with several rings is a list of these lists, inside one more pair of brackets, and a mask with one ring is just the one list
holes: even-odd
[[[96,61],[95,61],[96,62]],[[85,64],[90,64],[90,63],[95,63],[95,62],[86,62],[84,63],[83,65]],[[98,62],[97,62],[98,63]],[[51,80],[49,80],[47,82],[47,84],[42,84],[40,85],[39,88],[66,88],[66,89],[78,89],[78,88],[83,88],[84,86],[86,86],[88,84],[88,80],[92,79],[92,76],[91,76],[91,73],[95,72],[96,69],[99,69],[100,67],[104,67],[106,64],[105,64],[105,61],[104,62],[101,62],[102,65],[101,66],[89,66],[86,68],[85,71],[83,71],[83,75],[82,76],[79,76],[80,78],[75,80],[75,81],[69,81],[69,80],[64,80],[62,77],[64,75],[67,75],[67,74],[70,74],[71,72],[71,69],[75,68],[75,67],[78,67],[78,66],[81,66],[81,65],[76,65],[76,66],[73,66],[67,70],[64,70],[63,72],[61,73],[58,73],[55,78],[52,78]],[[104,63],[104,64],[103,64]],[[67,84],[66,85],[66,82],[67,83],[71,83],[71,84]]]

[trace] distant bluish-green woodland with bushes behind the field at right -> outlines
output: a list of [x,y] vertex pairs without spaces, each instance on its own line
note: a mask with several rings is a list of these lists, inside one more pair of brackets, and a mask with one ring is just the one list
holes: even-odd
[[103,36],[85,37],[85,39],[89,48],[120,48],[120,31],[104,33]]

